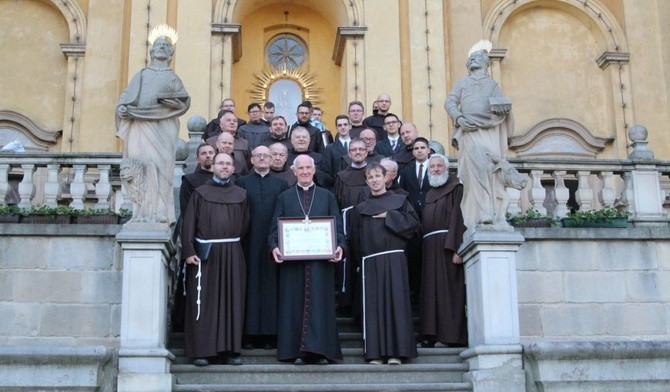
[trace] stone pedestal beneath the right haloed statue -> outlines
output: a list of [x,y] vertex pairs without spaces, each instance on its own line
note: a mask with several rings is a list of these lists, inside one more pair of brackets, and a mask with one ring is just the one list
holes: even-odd
[[461,357],[474,392],[525,392],[519,341],[517,232],[477,231],[463,241],[469,346]]

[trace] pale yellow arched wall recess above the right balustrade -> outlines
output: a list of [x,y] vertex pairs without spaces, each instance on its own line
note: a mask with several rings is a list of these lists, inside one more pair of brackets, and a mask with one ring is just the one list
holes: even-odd
[[595,59],[606,47],[593,26],[565,11],[535,8],[508,19],[500,86],[512,98],[514,135],[548,118],[565,117],[593,135],[614,136],[608,73]]

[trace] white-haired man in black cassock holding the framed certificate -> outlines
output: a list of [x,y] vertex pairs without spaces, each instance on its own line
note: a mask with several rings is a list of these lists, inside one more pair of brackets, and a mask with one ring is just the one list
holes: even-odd
[[[272,217],[268,245],[279,265],[277,359],[294,363],[342,360],[335,318],[335,263],[344,256],[345,239],[335,195],[314,184],[314,160],[300,155],[293,163],[298,183],[279,195]],[[331,260],[284,262],[279,250],[278,219],[335,218],[337,248]]]

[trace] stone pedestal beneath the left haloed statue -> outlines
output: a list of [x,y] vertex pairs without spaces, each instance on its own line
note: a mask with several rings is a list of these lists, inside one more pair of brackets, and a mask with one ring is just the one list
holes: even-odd
[[171,391],[166,349],[168,266],[174,247],[167,225],[127,223],[123,249],[118,391]]

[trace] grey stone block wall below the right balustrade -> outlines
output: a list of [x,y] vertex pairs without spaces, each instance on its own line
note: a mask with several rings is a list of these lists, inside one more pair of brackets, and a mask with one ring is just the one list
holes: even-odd
[[670,229],[522,229],[524,343],[670,340]]

